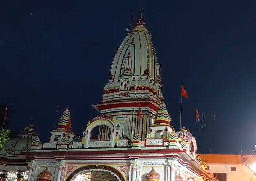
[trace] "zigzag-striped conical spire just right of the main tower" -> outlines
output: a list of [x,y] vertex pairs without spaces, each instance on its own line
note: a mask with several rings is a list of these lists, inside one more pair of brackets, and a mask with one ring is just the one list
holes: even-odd
[[156,120],[154,122],[154,124],[167,124],[167,125],[170,125],[170,115],[168,113],[168,110],[167,110],[167,107],[166,107],[166,104],[164,102],[162,102],[160,105],[159,105],[159,108],[158,108],[158,111],[157,111],[157,114],[156,114]]

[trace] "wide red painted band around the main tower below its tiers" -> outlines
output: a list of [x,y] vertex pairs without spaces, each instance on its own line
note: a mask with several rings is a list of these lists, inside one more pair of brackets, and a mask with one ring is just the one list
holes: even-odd
[[158,110],[158,106],[154,105],[152,102],[125,102],[125,103],[104,103],[96,105],[99,110],[111,109],[111,108],[118,108],[118,107],[149,107],[154,111]]

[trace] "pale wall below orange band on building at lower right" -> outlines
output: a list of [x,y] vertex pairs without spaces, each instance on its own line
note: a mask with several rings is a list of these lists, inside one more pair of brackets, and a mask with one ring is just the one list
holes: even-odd
[[[250,168],[253,164],[247,164]],[[256,176],[254,173],[246,166],[242,164],[211,164],[208,163],[209,171],[211,173],[227,173],[227,181],[254,181]],[[236,171],[231,171],[230,167],[236,167]]]

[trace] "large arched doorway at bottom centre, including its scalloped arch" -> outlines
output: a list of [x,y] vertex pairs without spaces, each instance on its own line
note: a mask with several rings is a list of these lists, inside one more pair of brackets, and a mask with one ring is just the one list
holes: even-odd
[[76,169],[66,181],[125,181],[122,174],[106,165],[87,165]]

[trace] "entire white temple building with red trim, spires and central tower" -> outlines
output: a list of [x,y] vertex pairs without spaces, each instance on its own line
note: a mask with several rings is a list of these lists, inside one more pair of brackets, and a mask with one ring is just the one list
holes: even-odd
[[162,89],[141,14],[114,56],[102,101],[93,105],[99,115],[82,136],[72,132],[69,107],[48,142],[30,122],[0,151],[1,181],[217,181],[189,129],[172,126]]

